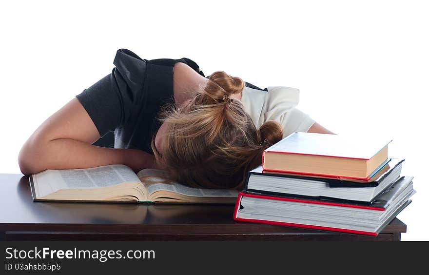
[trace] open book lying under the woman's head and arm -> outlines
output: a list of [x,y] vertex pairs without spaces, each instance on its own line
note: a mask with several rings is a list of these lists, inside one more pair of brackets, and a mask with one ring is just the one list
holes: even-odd
[[122,164],[85,169],[45,170],[30,175],[34,201],[138,203],[235,203],[238,191],[199,189],[172,182],[168,173]]

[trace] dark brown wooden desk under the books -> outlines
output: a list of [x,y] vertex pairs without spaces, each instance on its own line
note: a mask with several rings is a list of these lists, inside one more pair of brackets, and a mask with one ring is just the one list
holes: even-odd
[[0,240],[400,240],[234,221],[234,205],[33,202],[28,177],[0,174]]

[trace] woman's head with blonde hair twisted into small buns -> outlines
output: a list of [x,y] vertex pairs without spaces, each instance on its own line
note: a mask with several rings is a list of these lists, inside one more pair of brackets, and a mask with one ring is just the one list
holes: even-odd
[[231,98],[243,88],[242,79],[217,71],[193,99],[161,114],[165,134],[156,146],[152,139],[152,150],[173,180],[241,188],[246,173],[261,164],[263,150],[282,138],[280,124],[267,121],[256,129],[242,103]]

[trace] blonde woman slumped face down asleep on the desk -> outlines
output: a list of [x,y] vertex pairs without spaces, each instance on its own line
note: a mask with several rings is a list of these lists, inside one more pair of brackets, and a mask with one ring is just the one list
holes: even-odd
[[[24,175],[125,164],[164,169],[183,184],[241,188],[262,151],[294,131],[333,134],[296,108],[299,91],[265,90],[191,59],[141,59],[119,49],[115,68],[46,119],[24,143]],[[109,131],[115,148],[92,145]]]

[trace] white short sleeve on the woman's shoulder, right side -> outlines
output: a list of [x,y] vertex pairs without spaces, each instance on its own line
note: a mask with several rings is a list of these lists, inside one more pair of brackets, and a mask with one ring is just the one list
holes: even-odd
[[296,109],[299,90],[291,87],[267,87],[269,97],[264,121],[274,120],[283,128],[283,137],[293,132],[307,132],[315,122],[309,115]]

